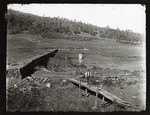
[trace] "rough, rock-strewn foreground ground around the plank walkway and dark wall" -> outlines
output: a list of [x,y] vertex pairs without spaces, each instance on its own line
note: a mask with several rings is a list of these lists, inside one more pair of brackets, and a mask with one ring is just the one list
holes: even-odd
[[[96,85],[95,81],[99,80],[103,89],[132,103],[139,109],[121,108],[118,105],[103,102],[100,99],[98,100],[98,108],[92,109],[95,101],[94,95],[86,97],[84,95],[85,91],[82,91],[82,97],[79,98],[77,86],[74,86],[68,81],[63,82],[65,78],[54,78],[55,76],[63,76],[64,72],[72,75],[83,75],[86,68],[87,66],[85,65],[77,65],[74,53],[59,51],[54,58],[49,59],[47,65],[46,71],[51,71],[53,74],[46,73],[45,70],[40,68],[39,71],[36,71],[32,75],[32,80],[28,78],[21,80],[17,78],[19,76],[17,70],[14,72],[12,72],[13,70],[9,71],[7,79],[11,82],[8,83],[8,110],[108,112],[140,111],[144,109],[145,103],[143,103],[141,96],[141,94],[145,93],[142,90],[144,81],[143,76],[140,76],[139,72],[110,68],[104,69],[95,66],[91,69],[94,74],[94,78],[91,79],[92,85]],[[11,75],[14,76],[12,77]],[[51,85],[49,88],[46,86],[48,83]],[[19,93],[18,95],[22,95],[22,99],[12,99],[12,97],[17,98],[17,96],[14,96],[16,95],[16,92]],[[35,95],[34,93],[38,93],[38,95]],[[35,99],[37,99],[33,102],[30,102],[29,99],[26,99],[27,102],[22,102],[25,100],[24,97],[26,97],[26,95],[29,95],[30,98],[33,98],[32,96],[35,95]],[[20,100],[20,102],[17,100]],[[14,101],[19,107],[15,106]],[[37,102],[37,104],[34,105],[35,102]],[[32,103],[33,106],[31,106]]]

